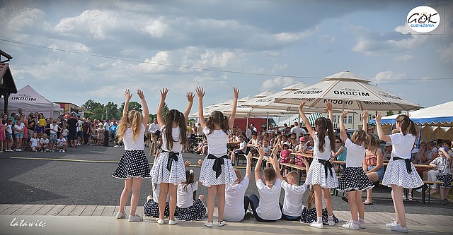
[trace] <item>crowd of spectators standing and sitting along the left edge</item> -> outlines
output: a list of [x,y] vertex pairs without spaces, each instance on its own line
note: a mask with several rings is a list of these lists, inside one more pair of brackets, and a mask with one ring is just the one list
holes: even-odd
[[66,152],[67,147],[79,145],[120,146],[117,142],[115,119],[91,121],[76,112],[62,114],[56,119],[35,112],[1,114],[0,152]]

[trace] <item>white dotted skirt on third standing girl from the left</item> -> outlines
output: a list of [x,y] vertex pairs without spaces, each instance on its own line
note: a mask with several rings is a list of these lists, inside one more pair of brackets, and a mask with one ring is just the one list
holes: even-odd
[[221,185],[236,181],[237,177],[236,174],[234,174],[233,165],[231,164],[230,159],[224,159],[222,174],[220,174],[217,179],[215,178],[215,171],[212,169],[214,162],[215,159],[208,159],[207,157],[203,160],[200,170],[200,182],[202,182],[204,186],[209,187],[212,185]]

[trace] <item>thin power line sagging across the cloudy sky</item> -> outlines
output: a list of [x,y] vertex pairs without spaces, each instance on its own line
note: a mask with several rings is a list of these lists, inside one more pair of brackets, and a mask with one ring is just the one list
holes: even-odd
[[[57,49],[57,48],[50,48],[50,47],[44,47],[40,45],[35,45],[35,44],[28,44],[25,42],[16,42],[12,40],[4,40],[0,39],[0,41],[3,42],[10,42],[14,44],[21,44],[25,45],[28,47],[38,47],[42,49],[51,49],[55,50],[58,52],[67,52],[67,53],[72,53],[72,54],[81,54],[85,56],[94,56],[94,57],[99,57],[99,58],[104,58],[104,59],[115,59],[119,61],[129,61],[129,62],[135,62],[135,63],[142,63],[142,64],[153,64],[153,65],[158,65],[158,66],[166,66],[166,67],[173,67],[173,68],[187,68],[187,69],[193,69],[193,70],[198,70],[198,71],[211,71],[211,72],[220,72],[220,73],[235,73],[235,74],[243,74],[243,75],[252,75],[252,76],[268,76],[268,77],[290,77],[290,78],[306,78],[306,79],[321,79],[320,77],[310,77],[310,76],[292,76],[292,75],[282,75],[282,74],[270,74],[270,73],[249,73],[249,72],[241,72],[241,71],[229,71],[229,70],[220,70],[220,69],[213,69],[213,68],[196,68],[196,67],[190,67],[190,66],[178,66],[178,65],[173,65],[173,64],[161,64],[161,63],[156,63],[156,62],[149,62],[149,61],[137,61],[134,59],[125,59],[125,58],[120,58],[120,57],[115,57],[115,56],[104,56],[100,54],[90,54],[86,52],[76,52],[76,51],[71,51],[67,49]],[[377,80],[377,78],[371,78],[371,80]],[[413,79],[413,78],[389,78],[386,80],[382,80],[382,82],[385,81],[420,81],[421,79]],[[453,78],[429,78],[429,80],[453,80]]]

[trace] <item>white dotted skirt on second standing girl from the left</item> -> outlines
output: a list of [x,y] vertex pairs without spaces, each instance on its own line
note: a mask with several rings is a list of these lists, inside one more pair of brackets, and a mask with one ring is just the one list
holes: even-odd
[[161,152],[159,157],[154,160],[154,166],[151,169],[151,178],[153,183],[174,183],[185,182],[184,159],[181,152],[178,154],[178,161],[171,164],[171,171],[167,169],[168,152]]

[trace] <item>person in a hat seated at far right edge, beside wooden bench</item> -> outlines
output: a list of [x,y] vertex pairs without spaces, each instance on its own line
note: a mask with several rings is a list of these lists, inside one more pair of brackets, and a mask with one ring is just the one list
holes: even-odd
[[[442,181],[440,184],[440,203],[447,204],[447,195],[449,188],[452,184],[452,165],[450,163],[451,157],[448,154],[447,147],[440,147],[438,156],[430,162],[431,167],[435,167],[428,171],[428,181]],[[433,185],[431,188],[435,187]],[[431,193],[435,193],[436,189],[431,189]]]

